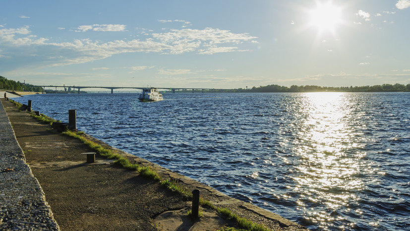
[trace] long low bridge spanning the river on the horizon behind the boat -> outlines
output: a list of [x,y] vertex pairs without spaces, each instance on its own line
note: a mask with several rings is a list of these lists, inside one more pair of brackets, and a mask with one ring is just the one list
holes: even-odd
[[[56,88],[56,93],[57,93],[57,88],[64,88],[64,91],[66,91],[65,89],[67,87],[72,88],[72,89],[78,89],[78,94],[80,93],[80,89],[84,89],[84,88],[105,88],[105,89],[111,89],[111,93],[114,93],[114,89],[144,89],[147,87],[124,87],[124,86],[66,86],[66,85],[34,85],[34,86],[38,86],[38,87],[43,87],[44,90],[46,90],[46,87],[53,87]],[[216,89],[216,88],[190,88],[190,87],[156,87],[158,89],[170,89],[172,90],[173,93],[175,93],[176,90],[190,90],[192,89],[192,93],[194,93],[195,90],[201,90],[202,92],[204,92],[205,90],[210,90],[211,92],[214,90],[233,90],[233,89]]]

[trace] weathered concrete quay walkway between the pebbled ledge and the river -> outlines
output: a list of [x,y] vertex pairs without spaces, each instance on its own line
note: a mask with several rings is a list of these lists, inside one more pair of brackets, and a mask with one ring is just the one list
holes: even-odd
[[[207,207],[201,207],[202,217],[192,222],[187,217],[190,202],[178,193],[165,189],[159,182],[148,180],[137,172],[123,169],[112,160],[99,155],[96,155],[95,163],[85,163],[82,153],[93,150],[81,141],[61,135],[50,125],[41,124],[28,112],[18,111],[11,102],[3,99],[1,101],[6,108],[15,137],[25,152],[27,163],[40,182],[62,231],[218,230],[224,226],[235,225]],[[12,130],[8,133],[14,137]],[[111,148],[93,137],[87,138]],[[199,189],[201,197],[215,206],[228,208],[235,214],[263,224],[271,230],[307,230],[276,214],[231,198],[145,159],[120,150],[113,151],[126,157],[131,163],[150,166],[163,179],[173,180],[187,190]],[[8,152],[4,154],[8,155]],[[18,191],[20,186],[12,187]],[[14,205],[10,209],[18,206]]]

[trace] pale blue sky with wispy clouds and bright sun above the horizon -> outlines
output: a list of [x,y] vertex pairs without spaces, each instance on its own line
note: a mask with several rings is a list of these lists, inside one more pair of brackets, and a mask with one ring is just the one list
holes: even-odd
[[0,75],[245,88],[410,82],[410,0],[2,0]]

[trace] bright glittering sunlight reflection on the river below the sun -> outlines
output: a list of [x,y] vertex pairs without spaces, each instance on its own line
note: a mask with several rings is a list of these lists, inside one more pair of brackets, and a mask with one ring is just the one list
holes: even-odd
[[[363,144],[356,142],[360,134],[351,125],[360,115],[353,113],[354,103],[344,93],[306,93],[299,103],[304,118],[294,128],[293,153],[298,156],[294,191],[306,218],[326,229],[330,221],[343,219],[338,209],[359,200],[352,190],[364,186],[357,176],[366,171],[366,152],[360,150]],[[323,210],[307,209],[312,204]]]

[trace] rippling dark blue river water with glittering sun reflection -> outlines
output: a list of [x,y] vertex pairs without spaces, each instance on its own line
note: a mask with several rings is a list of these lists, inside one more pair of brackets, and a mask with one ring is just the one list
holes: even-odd
[[311,230],[410,230],[410,93],[47,94],[33,109]]

